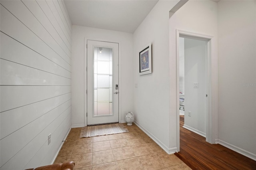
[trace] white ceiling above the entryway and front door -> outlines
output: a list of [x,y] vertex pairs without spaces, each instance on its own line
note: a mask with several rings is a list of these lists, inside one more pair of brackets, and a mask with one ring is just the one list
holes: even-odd
[[158,0],[64,0],[72,25],[133,33]]

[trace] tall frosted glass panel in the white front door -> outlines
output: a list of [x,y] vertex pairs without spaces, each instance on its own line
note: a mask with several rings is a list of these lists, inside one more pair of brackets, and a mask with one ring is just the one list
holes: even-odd
[[94,116],[100,115],[112,115],[112,49],[94,47]]

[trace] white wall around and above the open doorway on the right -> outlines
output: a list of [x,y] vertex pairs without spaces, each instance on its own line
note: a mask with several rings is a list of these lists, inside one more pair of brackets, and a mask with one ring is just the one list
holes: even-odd
[[[213,93],[218,91],[218,15],[217,3],[213,1],[188,1],[177,12],[175,12],[169,20],[170,26],[170,130],[172,131],[170,138],[170,146],[177,146],[176,132],[179,126],[177,121],[177,99],[176,99],[176,29],[213,36],[213,56],[211,60],[212,67],[212,89]],[[186,95],[186,91],[185,91]],[[218,121],[218,97],[215,97],[213,115],[214,122]],[[186,105],[186,103],[185,103]],[[186,109],[186,108],[185,108]],[[218,138],[218,123],[213,125],[214,139]]]

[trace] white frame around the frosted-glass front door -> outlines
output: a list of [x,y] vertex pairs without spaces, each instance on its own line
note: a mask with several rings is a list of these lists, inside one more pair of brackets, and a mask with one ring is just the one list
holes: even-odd
[[118,122],[121,123],[121,95],[122,95],[122,84],[121,84],[121,42],[114,40],[105,40],[98,38],[84,38],[84,126],[87,126],[87,40],[100,41],[100,42],[110,42],[118,43],[118,89],[119,89],[119,98],[118,98]]

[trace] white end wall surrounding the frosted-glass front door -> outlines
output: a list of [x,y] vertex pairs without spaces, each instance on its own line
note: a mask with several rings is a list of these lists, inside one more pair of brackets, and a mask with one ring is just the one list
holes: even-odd
[[84,26],[72,26],[72,127],[87,125],[84,117],[86,113],[86,81],[85,68],[85,44],[84,40],[103,40],[120,43],[120,84],[119,107],[121,121],[125,122],[125,113],[133,111],[133,58],[132,58],[132,34],[111,30],[102,30]]

